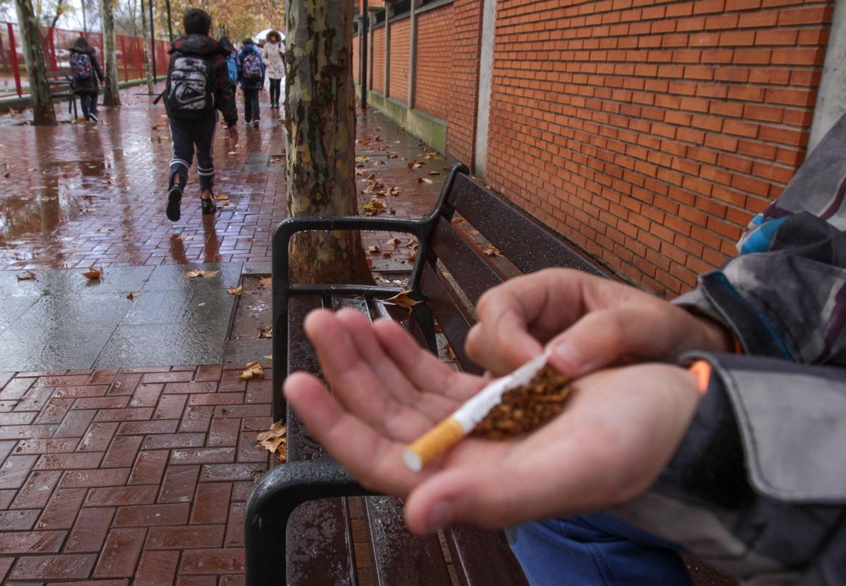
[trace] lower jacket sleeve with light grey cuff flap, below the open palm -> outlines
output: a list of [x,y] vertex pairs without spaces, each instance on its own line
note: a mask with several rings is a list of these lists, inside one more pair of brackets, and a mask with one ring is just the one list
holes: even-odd
[[744,580],[846,583],[846,369],[689,358],[713,367],[693,424],[613,512]]

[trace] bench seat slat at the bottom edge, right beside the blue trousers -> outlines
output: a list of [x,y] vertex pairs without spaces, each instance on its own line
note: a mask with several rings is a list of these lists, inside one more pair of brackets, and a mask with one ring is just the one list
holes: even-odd
[[447,543],[462,586],[528,586],[502,531],[456,525],[448,531]]

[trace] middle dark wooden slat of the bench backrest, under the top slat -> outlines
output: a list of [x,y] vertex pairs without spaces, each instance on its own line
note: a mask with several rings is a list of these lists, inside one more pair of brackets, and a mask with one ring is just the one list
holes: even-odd
[[437,220],[431,246],[473,304],[482,293],[503,282],[503,277],[444,217]]

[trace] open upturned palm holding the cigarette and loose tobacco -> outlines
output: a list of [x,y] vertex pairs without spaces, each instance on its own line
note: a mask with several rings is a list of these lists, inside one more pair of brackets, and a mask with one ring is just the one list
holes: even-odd
[[486,381],[455,372],[396,323],[353,310],[305,320],[332,393],[295,373],[285,396],[362,485],[406,497],[415,533],[451,523],[500,528],[590,512],[644,492],[667,464],[699,403],[694,375],[668,364],[604,370],[577,381],[564,412],[508,441],[470,437],[421,472],[405,445]]

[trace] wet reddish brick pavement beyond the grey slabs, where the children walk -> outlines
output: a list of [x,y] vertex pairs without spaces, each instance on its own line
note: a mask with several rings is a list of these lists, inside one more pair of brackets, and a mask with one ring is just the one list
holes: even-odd
[[[19,117],[0,117],[0,268],[270,260],[272,228],[286,215],[284,134],[276,117],[262,107],[261,128],[241,124],[237,147],[217,133],[216,191],[228,195],[228,205],[213,222],[204,221],[194,167],[183,217],[171,223],[163,213],[171,157],[167,118],[161,105],[152,106],[140,92],[124,90],[126,105],[104,108],[95,127],[35,128]],[[416,139],[377,112],[360,118],[358,136],[358,151],[368,156],[361,189],[375,173],[386,187],[399,188],[400,195],[387,202],[396,216],[429,211],[443,175],[428,172],[442,173],[443,161],[426,160]],[[409,161],[426,164],[411,171]],[[370,198],[360,194],[360,203]]]

